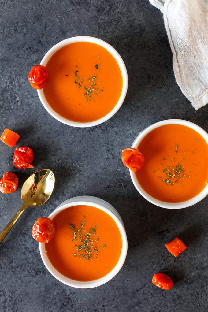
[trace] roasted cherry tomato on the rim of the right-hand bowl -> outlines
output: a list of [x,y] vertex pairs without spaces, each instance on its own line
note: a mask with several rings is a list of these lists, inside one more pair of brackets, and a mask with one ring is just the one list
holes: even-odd
[[144,165],[144,156],[138,150],[134,148],[128,148],[122,150],[121,160],[127,168],[136,172]]

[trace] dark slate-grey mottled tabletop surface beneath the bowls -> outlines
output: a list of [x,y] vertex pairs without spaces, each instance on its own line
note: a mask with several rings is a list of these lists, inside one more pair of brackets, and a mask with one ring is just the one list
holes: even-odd
[[[169,118],[192,121],[208,131],[208,106],[195,111],[181,93],[162,14],[148,0],[1,0],[0,129],[20,134],[18,145],[35,153],[35,171],[56,175],[49,201],[28,208],[0,245],[0,310],[7,311],[206,311],[207,198],[172,211],[141,197],[120,160],[146,126]],[[46,51],[68,37],[87,35],[107,41],[122,56],[129,87],[121,109],[92,128],[56,121],[40,103],[27,75]],[[1,176],[13,171],[19,187],[0,194],[0,230],[21,207],[21,186],[33,172],[13,167],[14,148],[0,144]],[[61,284],[46,270],[31,227],[67,198],[93,195],[112,204],[124,220],[128,255],[119,274],[95,289]],[[188,246],[174,258],[165,243],[179,236]],[[170,291],[152,285],[152,275],[169,274]]]

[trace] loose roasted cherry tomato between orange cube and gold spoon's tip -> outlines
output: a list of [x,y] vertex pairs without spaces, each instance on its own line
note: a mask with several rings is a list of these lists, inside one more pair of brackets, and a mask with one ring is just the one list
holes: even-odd
[[31,148],[26,146],[17,147],[14,150],[13,164],[19,169],[34,168],[34,166],[31,165],[33,158],[34,155]]

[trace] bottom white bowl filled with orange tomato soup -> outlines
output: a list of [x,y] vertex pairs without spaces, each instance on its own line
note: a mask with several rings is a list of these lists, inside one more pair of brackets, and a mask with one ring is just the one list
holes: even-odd
[[93,288],[121,270],[127,236],[119,213],[108,202],[93,196],[70,198],[49,218],[56,232],[39,248],[43,263],[57,280],[75,288]]

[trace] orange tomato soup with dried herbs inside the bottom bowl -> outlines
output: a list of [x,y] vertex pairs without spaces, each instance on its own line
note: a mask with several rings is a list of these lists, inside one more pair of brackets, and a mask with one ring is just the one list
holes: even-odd
[[122,238],[116,222],[106,212],[91,206],[73,206],[53,219],[54,238],[45,244],[51,264],[77,281],[97,280],[119,261]]

